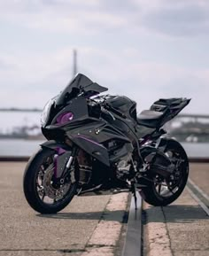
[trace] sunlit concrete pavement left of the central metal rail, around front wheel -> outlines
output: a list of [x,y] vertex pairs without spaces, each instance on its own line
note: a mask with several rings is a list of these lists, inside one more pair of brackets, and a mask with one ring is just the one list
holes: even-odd
[[41,215],[23,195],[25,165],[0,162],[0,256],[119,253],[128,193],[74,197],[62,212]]

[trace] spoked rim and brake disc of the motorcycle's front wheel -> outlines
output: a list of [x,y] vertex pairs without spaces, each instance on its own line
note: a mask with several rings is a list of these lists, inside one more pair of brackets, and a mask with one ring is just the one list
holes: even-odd
[[71,182],[63,182],[62,184],[55,179],[54,170],[54,154],[43,159],[42,165],[39,167],[35,178],[35,190],[38,198],[50,206],[58,205],[63,201],[71,188]]

